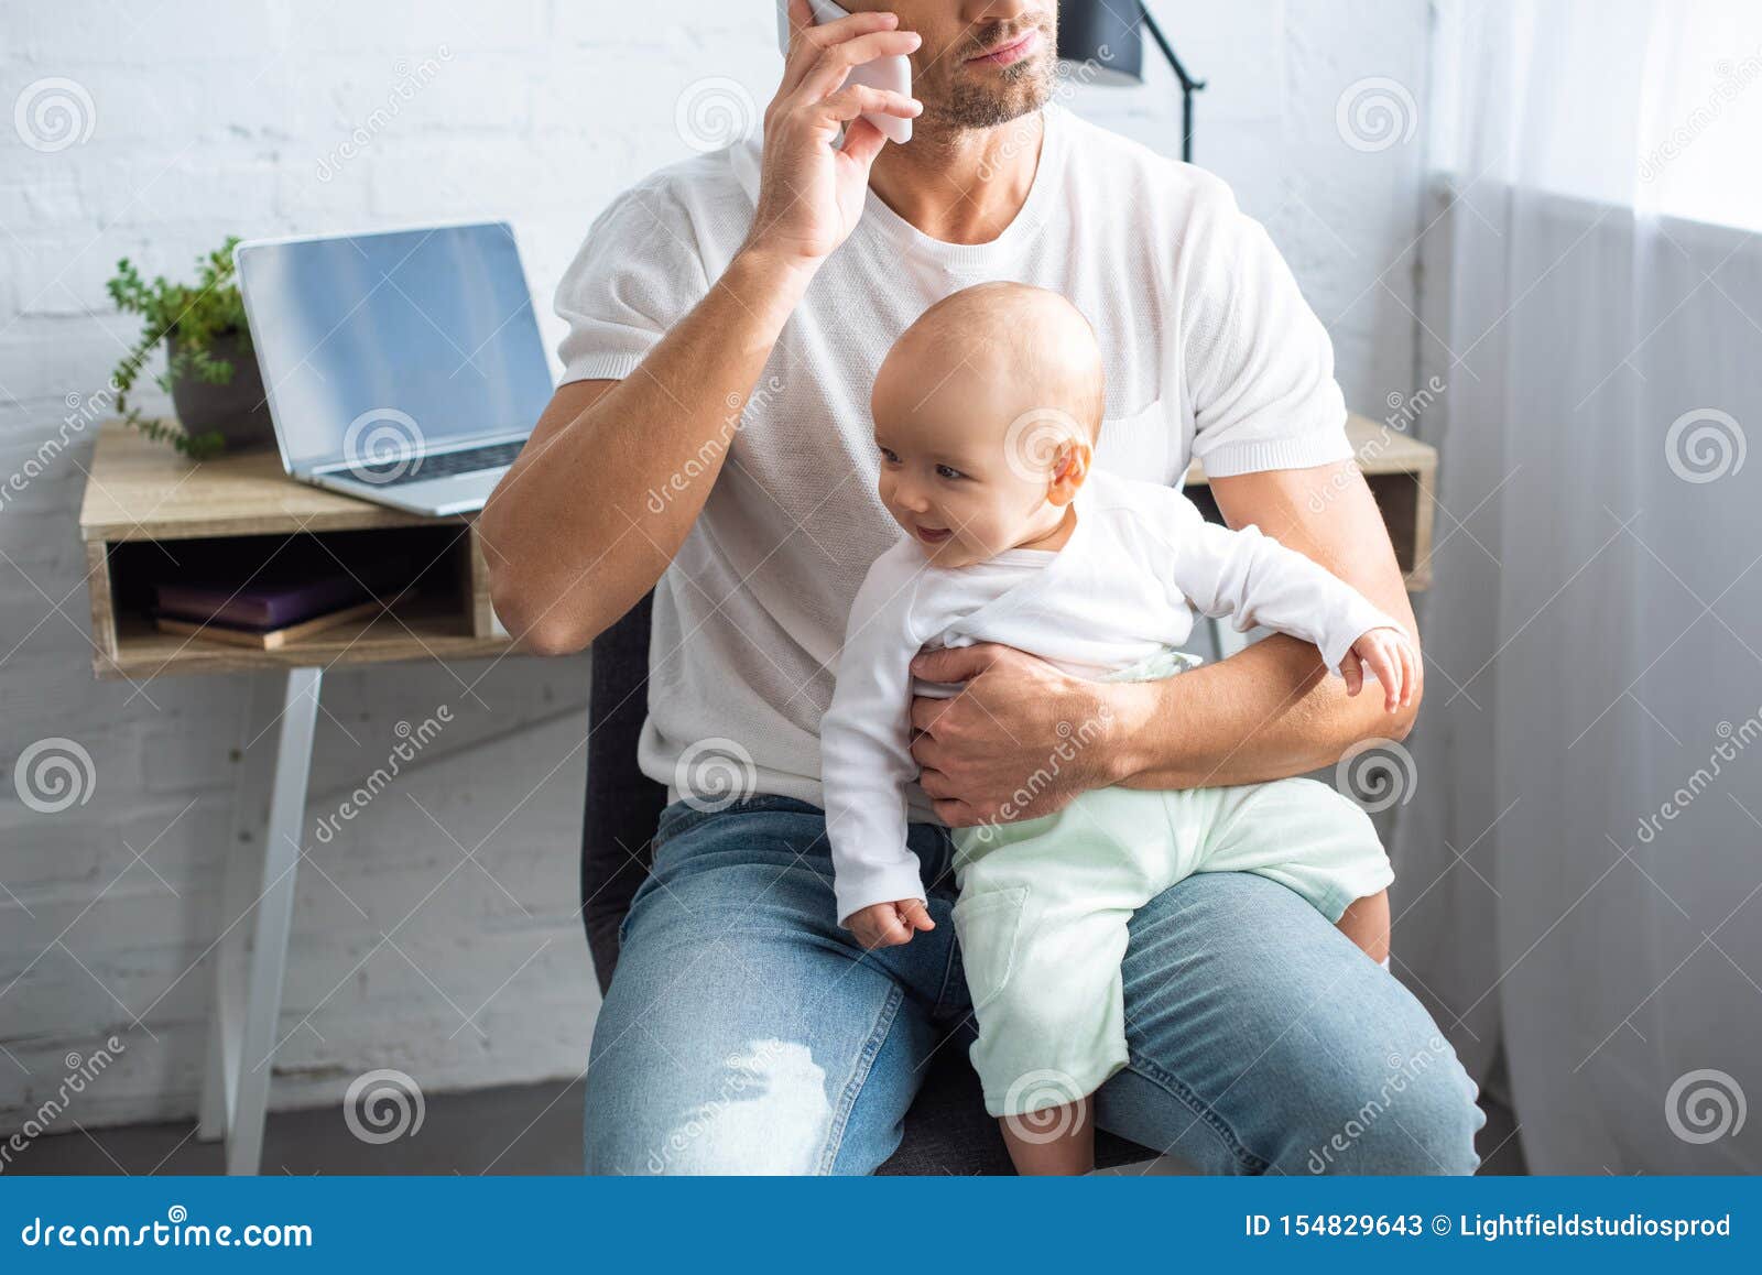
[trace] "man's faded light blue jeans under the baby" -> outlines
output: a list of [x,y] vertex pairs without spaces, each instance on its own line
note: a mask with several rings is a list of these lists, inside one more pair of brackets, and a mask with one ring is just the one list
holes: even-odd
[[[589,1173],[870,1173],[899,1146],[925,1062],[971,1018],[953,847],[911,826],[936,928],[863,953],[825,828],[775,796],[663,812],[594,1027]],[[1480,1164],[1475,1083],[1431,1016],[1274,881],[1202,873],[1151,900],[1124,993],[1101,1129],[1207,1173]]]

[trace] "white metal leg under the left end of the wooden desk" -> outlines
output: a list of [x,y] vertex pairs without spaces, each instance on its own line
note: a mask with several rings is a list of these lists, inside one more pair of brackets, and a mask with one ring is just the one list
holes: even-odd
[[[280,703],[273,683],[282,682]],[[231,856],[227,866],[227,921],[234,925],[255,910],[250,940],[248,977],[243,1000],[236,999],[243,923],[222,940],[215,967],[215,1013],[210,1027],[210,1076],[203,1087],[199,1131],[226,1127],[227,1173],[255,1173],[263,1157],[263,1122],[270,1106],[270,1078],[275,1071],[275,1046],[282,1013],[282,976],[287,969],[287,937],[294,918],[294,879],[300,866],[301,833],[307,815],[307,778],[312,770],[312,734],[317,724],[322,669],[289,669],[270,674],[252,687],[247,729],[259,734],[273,722],[277,745],[270,777],[270,822],[261,840],[261,873],[248,870],[248,854]],[[268,710],[268,713],[264,711]],[[264,717],[270,720],[266,722]],[[275,720],[278,719],[278,720]],[[238,803],[241,826],[255,819],[252,805],[268,770],[268,738],[257,738],[247,752],[247,775]],[[245,849],[245,847],[236,847]],[[234,877],[243,879],[234,886]],[[238,893],[234,893],[234,889]],[[254,896],[254,898],[252,898]],[[231,970],[231,972],[229,972]],[[218,1067],[215,1065],[218,1064]]]

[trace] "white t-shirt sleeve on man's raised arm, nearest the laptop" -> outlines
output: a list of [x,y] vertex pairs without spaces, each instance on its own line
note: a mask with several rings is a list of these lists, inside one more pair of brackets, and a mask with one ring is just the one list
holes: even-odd
[[645,180],[617,195],[587,231],[557,284],[562,380],[627,377],[710,291],[691,215],[673,188]]

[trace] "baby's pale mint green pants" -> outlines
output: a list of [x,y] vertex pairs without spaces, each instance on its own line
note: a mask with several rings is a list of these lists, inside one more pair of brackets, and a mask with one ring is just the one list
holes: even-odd
[[[1108,680],[1172,676],[1193,662],[1166,652]],[[1075,1102],[1126,1065],[1126,923],[1175,882],[1256,872],[1339,921],[1394,879],[1369,815],[1307,778],[1092,789],[1057,814],[953,836],[955,933],[978,1016],[973,1067],[994,1117]]]

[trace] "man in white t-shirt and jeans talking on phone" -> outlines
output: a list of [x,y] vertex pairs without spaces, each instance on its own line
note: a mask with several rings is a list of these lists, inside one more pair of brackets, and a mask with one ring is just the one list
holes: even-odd
[[[1013,817],[1107,784],[1299,775],[1411,726],[1286,636],[1107,687],[1008,648],[920,657],[966,683],[913,706],[936,928],[867,953],[839,928],[816,733],[851,599],[895,535],[869,389],[941,296],[985,278],[1068,296],[1107,361],[1099,465],[1173,483],[1200,456],[1232,525],[1415,629],[1327,333],[1260,225],[1216,178],[1052,100],[1054,0],[883,2],[811,26],[789,0],[763,143],[666,167],[594,222],[557,294],[564,384],[483,512],[493,602],[529,650],[581,650],[655,592],[640,761],[673,805],[594,1030],[594,1173],[885,1161],[971,1016],[941,824],[1011,803],[1061,724],[1112,727]],[[914,100],[844,85],[890,55]],[[862,113],[911,118],[911,143]],[[1124,988],[1131,1065],[1094,1099],[1103,1129],[1219,1173],[1478,1164],[1473,1083],[1425,1011],[1272,881],[1156,898]]]

